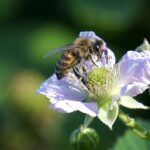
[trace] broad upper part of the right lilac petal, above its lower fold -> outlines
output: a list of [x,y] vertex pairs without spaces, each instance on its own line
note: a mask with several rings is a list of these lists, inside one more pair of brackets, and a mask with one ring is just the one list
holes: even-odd
[[120,80],[150,84],[150,52],[128,51],[120,62]]

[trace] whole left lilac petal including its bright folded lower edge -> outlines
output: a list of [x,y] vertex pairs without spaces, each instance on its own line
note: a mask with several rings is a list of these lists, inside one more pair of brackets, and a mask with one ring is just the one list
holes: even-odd
[[50,107],[59,112],[81,111],[92,117],[95,117],[98,110],[96,103],[84,103],[85,92],[80,89],[78,81],[68,81],[66,78],[57,80],[53,75],[37,90],[37,93],[43,94],[50,99]]

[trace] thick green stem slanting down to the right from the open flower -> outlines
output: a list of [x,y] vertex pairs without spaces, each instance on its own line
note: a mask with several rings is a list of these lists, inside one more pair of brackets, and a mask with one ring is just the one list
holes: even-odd
[[133,118],[129,117],[121,110],[119,111],[119,119],[139,137],[150,141],[150,133],[146,129],[139,126]]

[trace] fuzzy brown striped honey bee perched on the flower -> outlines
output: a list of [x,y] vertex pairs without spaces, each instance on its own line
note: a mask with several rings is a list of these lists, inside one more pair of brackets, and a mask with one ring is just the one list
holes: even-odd
[[60,59],[58,60],[55,68],[55,74],[57,79],[60,80],[73,70],[75,75],[79,77],[79,74],[75,71],[75,67],[80,64],[81,60],[92,60],[92,54],[96,55],[98,59],[101,59],[105,42],[100,38],[91,38],[81,36],[75,39],[72,45],[55,49],[54,52],[50,52],[49,55],[53,55],[61,51]]

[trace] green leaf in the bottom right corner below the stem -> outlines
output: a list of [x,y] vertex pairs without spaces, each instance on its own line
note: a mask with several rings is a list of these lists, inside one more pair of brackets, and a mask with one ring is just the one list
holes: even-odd
[[[142,120],[144,127],[149,127],[150,122]],[[145,125],[146,124],[146,125]],[[112,150],[149,150],[150,142],[141,139],[131,130],[127,130],[122,137],[119,137]]]

